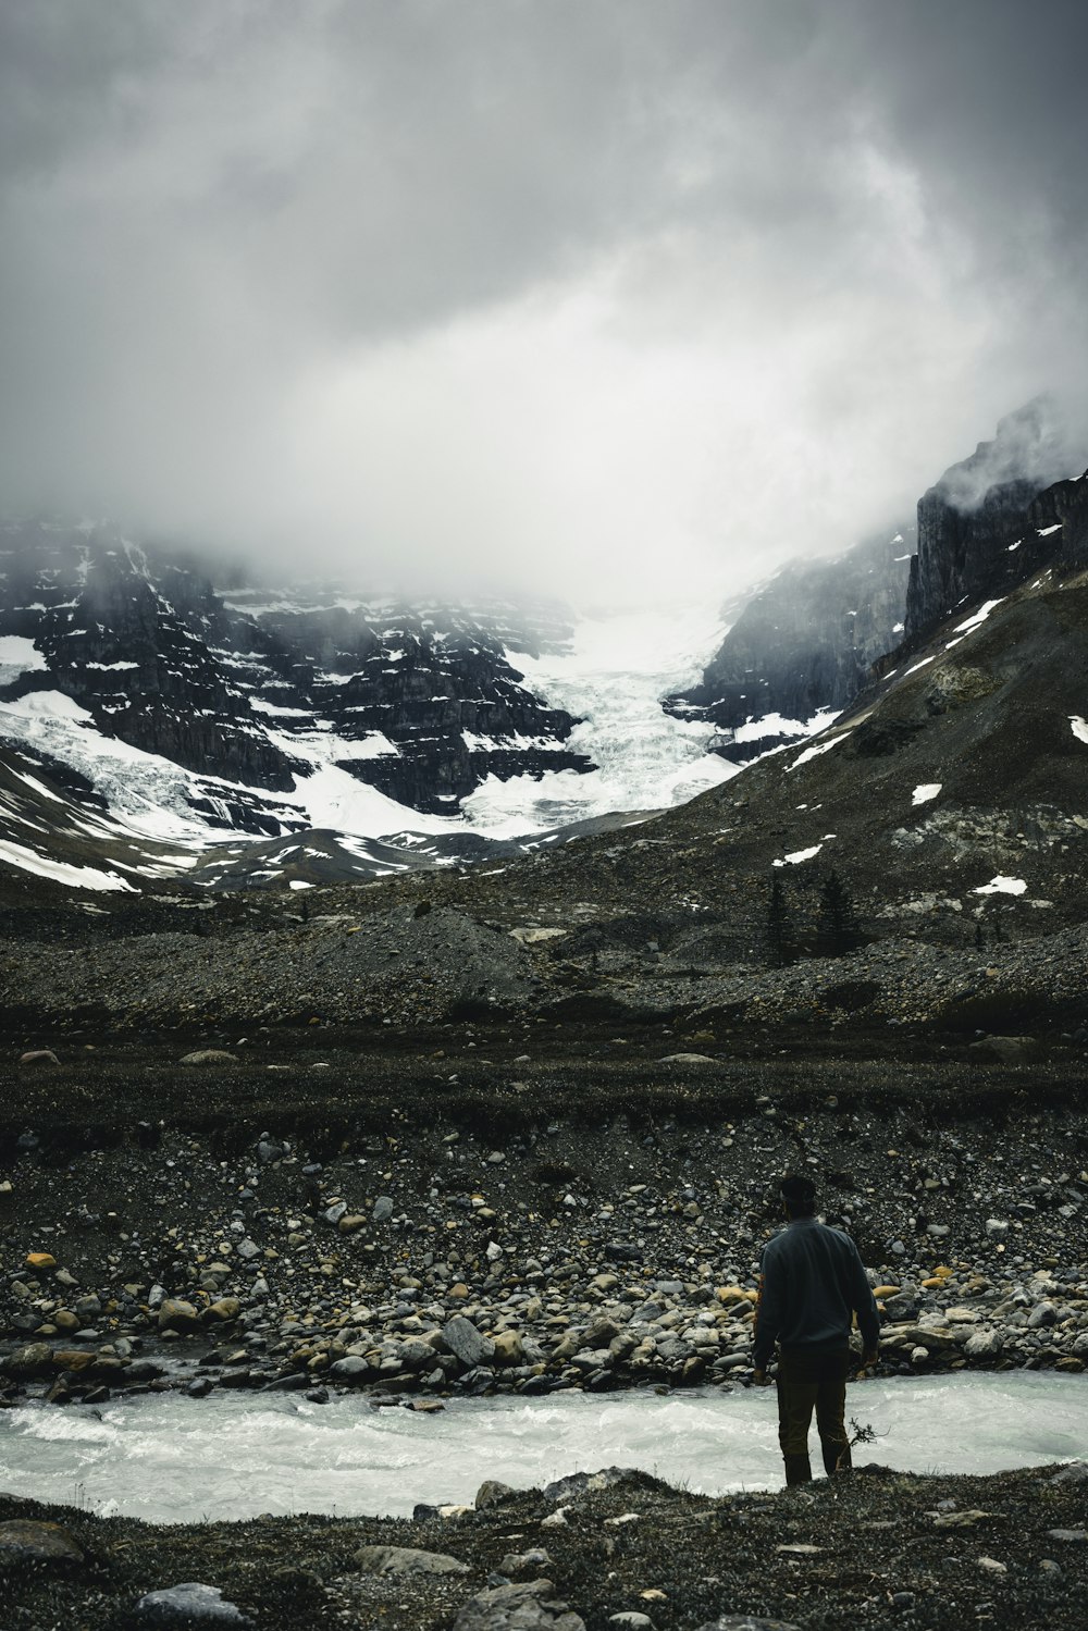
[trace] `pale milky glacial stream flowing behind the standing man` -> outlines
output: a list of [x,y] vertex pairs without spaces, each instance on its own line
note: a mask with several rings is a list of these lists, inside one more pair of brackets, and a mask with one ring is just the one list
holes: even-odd
[[[847,1393],[850,1417],[878,1434],[855,1460],[904,1471],[995,1473],[1088,1456],[1080,1377],[865,1381]],[[706,1494],[778,1487],[775,1393],[452,1399],[427,1414],[374,1408],[364,1395],[312,1404],[214,1393],[0,1412],[0,1489],[153,1522],[408,1515],[418,1501],[470,1502],[484,1478],[530,1487],[602,1466],[638,1466]]]

